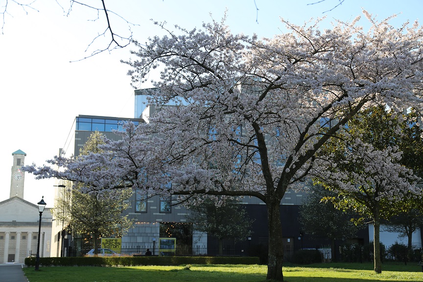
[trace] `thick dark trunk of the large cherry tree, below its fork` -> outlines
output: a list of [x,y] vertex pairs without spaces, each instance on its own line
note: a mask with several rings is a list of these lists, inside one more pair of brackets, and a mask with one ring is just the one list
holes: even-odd
[[268,280],[283,281],[283,239],[280,202],[267,203],[267,221],[269,228],[269,257],[267,263]]

